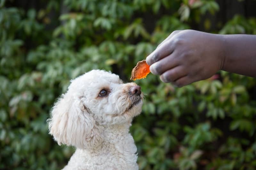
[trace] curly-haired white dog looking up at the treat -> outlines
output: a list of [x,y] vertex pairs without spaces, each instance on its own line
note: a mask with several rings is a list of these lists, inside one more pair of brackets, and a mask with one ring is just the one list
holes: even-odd
[[71,81],[48,120],[58,144],[76,147],[64,169],[136,170],[137,148],[129,133],[143,93],[115,74],[92,70]]

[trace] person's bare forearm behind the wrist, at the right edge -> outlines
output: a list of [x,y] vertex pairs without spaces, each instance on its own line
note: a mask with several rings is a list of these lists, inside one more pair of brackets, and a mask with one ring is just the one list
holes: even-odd
[[223,35],[221,70],[256,77],[256,35]]

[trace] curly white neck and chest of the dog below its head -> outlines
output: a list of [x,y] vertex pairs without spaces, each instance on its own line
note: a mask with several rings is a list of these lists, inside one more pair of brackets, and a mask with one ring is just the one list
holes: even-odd
[[[92,164],[94,169],[115,169],[111,167],[116,167],[117,162],[122,162],[116,169],[137,170],[137,148],[129,133],[130,126],[131,123],[100,126],[103,142],[91,149],[77,149],[70,159],[70,164],[79,160],[86,162],[86,165]],[[99,167],[96,167],[97,164],[100,164]]]

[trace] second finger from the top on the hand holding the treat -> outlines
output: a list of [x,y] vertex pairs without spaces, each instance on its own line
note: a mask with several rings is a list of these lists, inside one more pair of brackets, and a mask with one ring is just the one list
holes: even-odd
[[156,63],[153,63],[149,69],[150,72],[156,75],[161,75],[163,72],[170,70],[176,66],[178,66],[178,61],[177,57],[174,58],[174,53],[173,52],[171,55],[168,55],[164,57],[163,59],[159,60]]

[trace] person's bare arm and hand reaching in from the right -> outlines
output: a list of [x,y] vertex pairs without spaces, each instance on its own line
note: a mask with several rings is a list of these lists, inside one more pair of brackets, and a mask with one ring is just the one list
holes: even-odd
[[163,82],[184,86],[218,70],[256,77],[256,35],[174,31],[147,58]]

